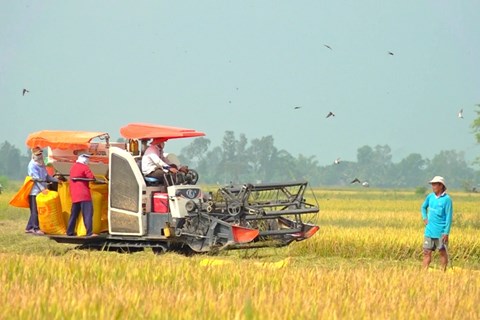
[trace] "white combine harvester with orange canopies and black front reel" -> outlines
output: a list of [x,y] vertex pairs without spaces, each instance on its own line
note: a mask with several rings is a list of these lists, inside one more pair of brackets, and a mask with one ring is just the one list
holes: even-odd
[[[128,124],[120,133],[126,143],[110,143],[105,132],[40,131],[28,137],[29,147],[48,148],[49,162],[63,176],[68,176],[79,152],[90,152],[89,166],[98,177],[91,189],[99,183],[104,187],[101,222],[99,210],[94,210],[98,236],[46,234],[50,239],[102,250],[212,252],[285,246],[308,239],[319,229],[313,223],[318,203],[304,198],[307,182],[230,185],[206,193],[195,185],[198,173],[190,170],[190,184],[161,183],[145,178],[140,170],[148,141],[205,134],[141,123]],[[67,215],[68,203],[62,199]]]

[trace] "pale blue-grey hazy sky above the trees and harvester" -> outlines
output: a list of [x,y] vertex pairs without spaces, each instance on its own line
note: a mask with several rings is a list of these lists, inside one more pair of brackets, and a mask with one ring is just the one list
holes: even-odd
[[227,130],[273,135],[320,164],[377,144],[395,162],[453,149],[471,160],[479,31],[477,0],[3,0],[0,142],[24,151],[44,129],[117,139],[147,122],[213,146]]

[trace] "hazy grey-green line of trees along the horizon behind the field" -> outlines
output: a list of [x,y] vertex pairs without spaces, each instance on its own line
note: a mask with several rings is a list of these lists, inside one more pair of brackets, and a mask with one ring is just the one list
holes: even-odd
[[[480,117],[477,120],[472,128],[480,142]],[[271,135],[248,141],[233,131],[226,131],[221,145],[213,148],[209,139],[196,138],[178,158],[198,171],[200,183],[221,185],[306,180],[312,186],[333,187],[350,185],[357,178],[372,187],[409,188],[424,186],[434,175],[442,175],[450,187],[473,190],[478,188],[480,175],[461,151],[443,150],[432,159],[412,153],[394,163],[388,145],[366,145],[357,150],[356,161],[321,166],[315,156],[293,156],[278,149]],[[29,161],[30,155],[22,155],[5,141],[0,145],[0,182],[22,180]]]

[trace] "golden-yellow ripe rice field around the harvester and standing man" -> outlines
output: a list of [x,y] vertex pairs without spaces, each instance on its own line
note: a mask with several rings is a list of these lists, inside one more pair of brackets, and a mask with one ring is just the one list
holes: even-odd
[[452,192],[453,268],[420,269],[423,196],[316,190],[319,232],[185,257],[75,250],[23,233],[0,195],[0,319],[480,319],[480,194]]

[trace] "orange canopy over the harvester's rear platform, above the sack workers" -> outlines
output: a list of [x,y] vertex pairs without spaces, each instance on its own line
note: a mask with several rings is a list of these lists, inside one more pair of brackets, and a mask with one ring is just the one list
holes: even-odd
[[78,150],[89,147],[94,138],[109,138],[106,132],[43,130],[30,134],[26,144],[30,148]]

